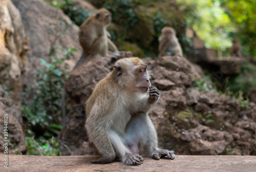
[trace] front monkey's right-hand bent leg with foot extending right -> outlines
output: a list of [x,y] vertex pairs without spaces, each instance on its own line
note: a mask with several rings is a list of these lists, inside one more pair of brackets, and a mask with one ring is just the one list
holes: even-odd
[[167,156],[169,159],[174,159],[175,154],[173,150],[160,149],[158,147],[158,139],[155,126],[153,125],[150,117],[146,114],[138,114],[138,123],[140,124],[139,130],[143,132],[143,137],[140,140],[141,144],[147,150],[148,156],[153,159],[159,160],[161,157]]

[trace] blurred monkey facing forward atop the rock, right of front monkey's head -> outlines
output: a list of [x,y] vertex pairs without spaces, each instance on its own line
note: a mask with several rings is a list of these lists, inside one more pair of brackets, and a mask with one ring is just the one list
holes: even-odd
[[183,56],[182,49],[178,38],[176,37],[176,32],[172,27],[164,27],[161,30],[161,36],[159,40],[159,54],[158,57],[166,55],[180,55]]

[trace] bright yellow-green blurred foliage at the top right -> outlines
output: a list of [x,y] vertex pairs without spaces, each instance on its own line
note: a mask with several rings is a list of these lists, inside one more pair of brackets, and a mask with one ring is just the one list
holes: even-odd
[[221,49],[231,47],[229,34],[232,31],[231,20],[220,6],[212,0],[178,0],[187,23],[204,41],[207,48]]

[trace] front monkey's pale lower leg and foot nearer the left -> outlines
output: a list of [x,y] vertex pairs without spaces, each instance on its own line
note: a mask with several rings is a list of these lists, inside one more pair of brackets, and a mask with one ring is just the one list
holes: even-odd
[[125,165],[140,165],[143,158],[138,154],[133,154],[124,145],[125,140],[121,138],[115,131],[109,132],[111,143],[115,149],[117,156]]

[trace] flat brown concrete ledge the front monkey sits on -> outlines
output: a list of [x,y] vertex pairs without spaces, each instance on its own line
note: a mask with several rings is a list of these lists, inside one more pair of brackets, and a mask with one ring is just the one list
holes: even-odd
[[[92,164],[96,156],[25,156],[9,155],[8,169],[0,171],[256,171],[256,156],[176,156],[159,161],[144,157],[139,166],[121,162]],[[1,155],[3,161],[4,156]]]

